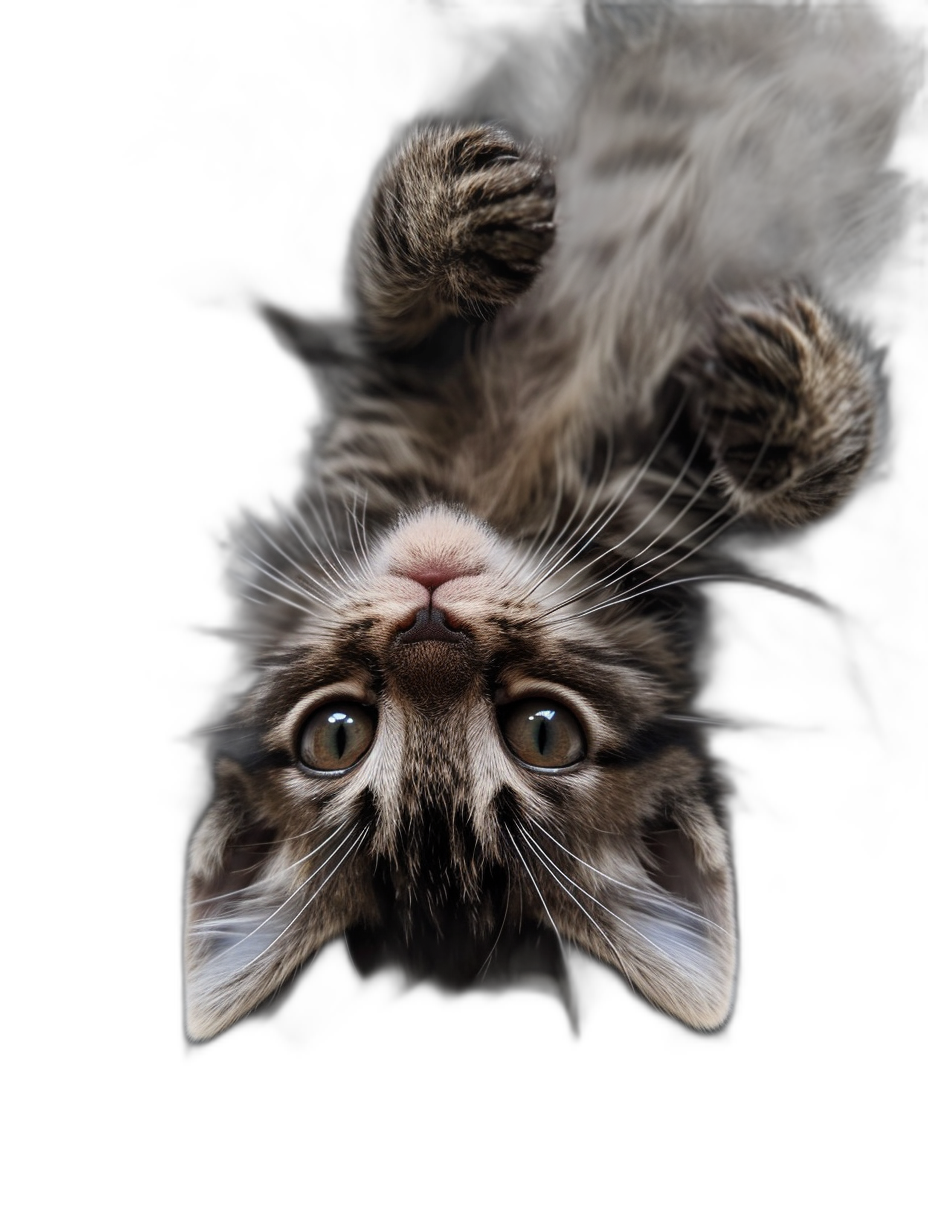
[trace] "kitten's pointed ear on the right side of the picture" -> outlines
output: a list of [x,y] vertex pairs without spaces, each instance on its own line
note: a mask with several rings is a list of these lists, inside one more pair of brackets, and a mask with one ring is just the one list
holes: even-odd
[[645,839],[637,875],[616,869],[600,896],[610,944],[599,952],[659,1010],[696,1029],[721,1026],[738,946],[727,834],[710,808],[664,816]]

